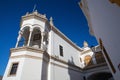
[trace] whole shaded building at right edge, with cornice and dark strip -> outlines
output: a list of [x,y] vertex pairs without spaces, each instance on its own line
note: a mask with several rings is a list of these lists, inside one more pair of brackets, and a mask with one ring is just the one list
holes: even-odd
[[81,0],[90,33],[96,37],[115,78],[120,79],[120,0]]

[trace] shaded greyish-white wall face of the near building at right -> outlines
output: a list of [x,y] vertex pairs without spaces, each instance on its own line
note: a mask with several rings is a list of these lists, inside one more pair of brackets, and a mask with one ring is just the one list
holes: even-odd
[[109,0],[86,0],[92,22],[92,28],[97,40],[102,39],[104,47],[116,69],[113,76],[120,79],[120,6]]

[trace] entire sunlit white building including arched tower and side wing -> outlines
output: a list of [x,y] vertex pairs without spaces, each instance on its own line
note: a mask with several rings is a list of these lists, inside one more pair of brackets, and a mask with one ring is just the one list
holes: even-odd
[[[100,52],[99,46],[94,48]],[[92,80],[94,74],[113,80],[105,61],[99,60],[87,42],[78,47],[54,26],[52,18],[49,21],[34,11],[21,18],[3,80]]]

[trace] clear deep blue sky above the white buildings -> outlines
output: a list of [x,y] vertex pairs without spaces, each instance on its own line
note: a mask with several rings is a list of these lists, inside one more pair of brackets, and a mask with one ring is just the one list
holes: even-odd
[[0,75],[4,74],[10,48],[14,48],[20,29],[20,19],[26,12],[36,9],[41,14],[51,16],[54,25],[78,46],[97,45],[89,34],[87,21],[78,5],[80,0],[0,0]]

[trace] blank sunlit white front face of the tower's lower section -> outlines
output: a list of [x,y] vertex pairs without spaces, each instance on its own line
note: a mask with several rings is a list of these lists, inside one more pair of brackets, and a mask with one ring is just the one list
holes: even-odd
[[21,80],[41,80],[42,60],[26,58],[22,67]]

